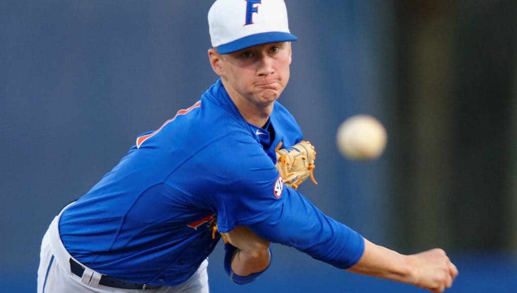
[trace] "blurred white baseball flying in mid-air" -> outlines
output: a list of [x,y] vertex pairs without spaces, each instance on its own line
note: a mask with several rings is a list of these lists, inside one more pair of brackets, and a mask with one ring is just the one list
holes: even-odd
[[349,159],[375,159],[383,153],[386,141],[383,124],[369,115],[352,116],[338,128],[338,149]]

